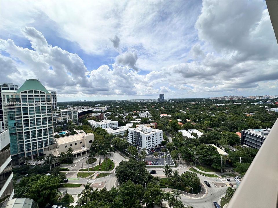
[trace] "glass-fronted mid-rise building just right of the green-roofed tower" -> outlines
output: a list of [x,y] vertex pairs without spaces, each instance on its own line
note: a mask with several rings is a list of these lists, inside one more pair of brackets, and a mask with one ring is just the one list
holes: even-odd
[[54,110],[53,124],[65,127],[70,120],[78,126],[78,111],[76,109]]

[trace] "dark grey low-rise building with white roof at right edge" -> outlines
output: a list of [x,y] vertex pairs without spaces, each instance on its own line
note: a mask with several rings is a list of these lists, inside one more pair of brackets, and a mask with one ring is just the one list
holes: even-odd
[[241,144],[259,149],[271,129],[248,129],[241,131]]

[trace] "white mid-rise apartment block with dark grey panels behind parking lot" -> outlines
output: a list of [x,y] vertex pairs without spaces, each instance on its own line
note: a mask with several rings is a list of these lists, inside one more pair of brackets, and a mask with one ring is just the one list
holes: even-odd
[[163,140],[162,130],[159,129],[140,126],[137,128],[129,128],[127,131],[129,143],[137,144],[147,150],[159,146]]

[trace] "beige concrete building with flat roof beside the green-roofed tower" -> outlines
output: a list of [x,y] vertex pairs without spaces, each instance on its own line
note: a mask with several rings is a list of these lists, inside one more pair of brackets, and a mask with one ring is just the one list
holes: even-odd
[[74,157],[82,157],[84,154],[87,155],[94,139],[95,136],[93,133],[86,134],[84,131],[78,130],[78,134],[56,138],[56,148],[47,151],[47,155],[52,154],[58,156],[61,152],[67,152],[67,149],[71,147]]

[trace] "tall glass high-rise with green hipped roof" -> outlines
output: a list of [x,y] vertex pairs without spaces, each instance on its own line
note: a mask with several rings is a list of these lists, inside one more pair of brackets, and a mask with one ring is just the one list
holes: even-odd
[[38,79],[27,79],[17,91],[1,93],[12,158],[43,155],[54,144],[51,93]]

